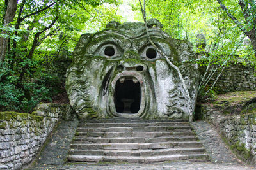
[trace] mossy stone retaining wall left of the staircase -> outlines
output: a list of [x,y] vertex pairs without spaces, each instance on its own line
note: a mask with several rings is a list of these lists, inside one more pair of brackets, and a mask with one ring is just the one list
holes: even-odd
[[29,164],[59,120],[72,120],[69,104],[40,103],[29,113],[0,113],[0,169]]

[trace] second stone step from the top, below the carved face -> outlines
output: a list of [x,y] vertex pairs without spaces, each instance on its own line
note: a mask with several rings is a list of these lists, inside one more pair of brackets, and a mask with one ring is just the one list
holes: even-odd
[[131,122],[131,123],[80,123],[77,127],[147,127],[147,126],[180,126],[189,122]]

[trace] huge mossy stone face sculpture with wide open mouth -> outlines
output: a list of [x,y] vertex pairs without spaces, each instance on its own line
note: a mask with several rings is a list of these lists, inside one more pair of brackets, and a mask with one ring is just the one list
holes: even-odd
[[173,67],[149,43],[141,22],[109,22],[106,29],[83,34],[67,69],[66,90],[79,118],[184,118],[195,108],[196,55],[189,41],[171,38],[158,20],[148,20],[150,37]]

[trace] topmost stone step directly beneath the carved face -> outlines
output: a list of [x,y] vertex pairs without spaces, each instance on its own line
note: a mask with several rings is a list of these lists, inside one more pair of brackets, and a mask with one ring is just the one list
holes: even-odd
[[80,123],[148,123],[148,122],[188,122],[185,119],[176,120],[143,120],[139,118],[113,118],[113,119],[99,119],[99,120],[81,120]]

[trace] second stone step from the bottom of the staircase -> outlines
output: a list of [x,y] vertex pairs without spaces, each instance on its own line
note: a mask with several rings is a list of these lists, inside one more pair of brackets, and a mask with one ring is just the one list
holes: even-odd
[[165,148],[145,150],[68,150],[68,155],[100,155],[100,156],[157,156],[179,153],[204,153],[204,148]]

